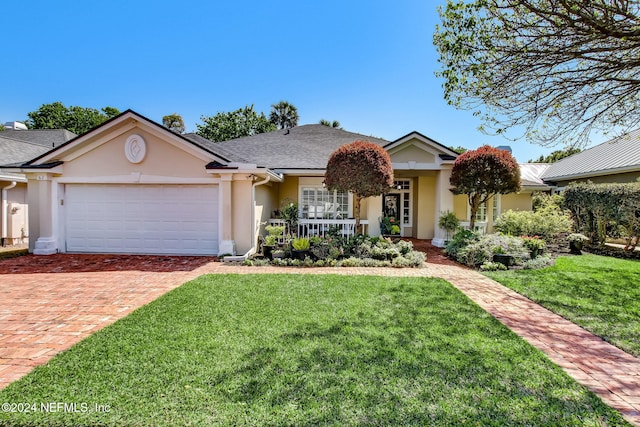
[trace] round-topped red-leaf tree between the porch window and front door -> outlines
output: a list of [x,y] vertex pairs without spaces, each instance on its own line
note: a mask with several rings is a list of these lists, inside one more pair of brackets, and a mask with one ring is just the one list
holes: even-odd
[[355,141],[331,153],[324,183],[330,191],[352,192],[356,232],[360,233],[360,203],[364,197],[379,196],[393,186],[389,153],[368,141]]

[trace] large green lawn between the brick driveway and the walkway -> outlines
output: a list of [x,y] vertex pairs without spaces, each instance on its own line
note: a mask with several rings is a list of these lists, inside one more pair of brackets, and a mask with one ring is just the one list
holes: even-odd
[[[28,425],[626,425],[439,279],[203,276],[0,391]],[[108,412],[96,412],[95,405]]]

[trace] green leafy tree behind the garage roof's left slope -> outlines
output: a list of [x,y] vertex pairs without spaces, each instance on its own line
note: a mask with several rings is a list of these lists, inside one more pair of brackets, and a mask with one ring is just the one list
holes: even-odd
[[61,102],[42,104],[36,111],[28,113],[25,124],[29,129],[66,129],[81,135],[120,114],[117,108],[66,107]]

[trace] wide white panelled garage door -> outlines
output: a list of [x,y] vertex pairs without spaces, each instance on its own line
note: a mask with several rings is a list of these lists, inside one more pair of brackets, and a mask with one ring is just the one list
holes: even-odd
[[218,253],[213,185],[69,184],[64,219],[68,252]]

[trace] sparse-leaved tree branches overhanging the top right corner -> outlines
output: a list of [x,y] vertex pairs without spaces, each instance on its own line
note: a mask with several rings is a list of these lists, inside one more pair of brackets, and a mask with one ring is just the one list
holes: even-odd
[[640,124],[640,2],[449,0],[439,13],[444,97],[481,129],[580,146]]

